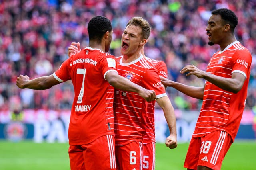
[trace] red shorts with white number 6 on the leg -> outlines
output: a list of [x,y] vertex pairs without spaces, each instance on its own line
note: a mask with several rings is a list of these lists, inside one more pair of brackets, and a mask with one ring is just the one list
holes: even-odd
[[142,170],[143,144],[135,141],[126,145],[116,145],[118,170]]

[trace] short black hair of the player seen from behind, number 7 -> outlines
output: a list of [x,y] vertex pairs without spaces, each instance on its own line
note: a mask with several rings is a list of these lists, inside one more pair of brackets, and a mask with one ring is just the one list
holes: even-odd
[[95,16],[88,23],[89,40],[101,42],[104,33],[112,31],[112,25],[108,18],[104,16]]

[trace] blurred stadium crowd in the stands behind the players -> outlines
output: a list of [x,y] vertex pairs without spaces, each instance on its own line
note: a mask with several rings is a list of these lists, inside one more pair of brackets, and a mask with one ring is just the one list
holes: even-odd
[[[72,82],[50,90],[19,89],[19,74],[48,75],[68,58],[71,42],[88,45],[88,21],[96,15],[112,21],[109,53],[119,56],[122,31],[133,16],[152,26],[145,47],[147,57],[166,62],[170,79],[202,86],[203,80],[180,70],[194,64],[205,70],[219,46],[209,46],[206,26],[211,11],[229,8],[238,16],[236,38],[252,53],[246,109],[256,110],[255,0],[0,0],[0,109],[70,109]],[[175,109],[198,110],[201,101],[167,88]]]

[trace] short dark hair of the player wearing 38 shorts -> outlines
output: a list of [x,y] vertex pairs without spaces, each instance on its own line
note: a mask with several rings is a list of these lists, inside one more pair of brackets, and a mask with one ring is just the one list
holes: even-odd
[[220,8],[212,11],[213,15],[220,15],[224,24],[230,25],[230,30],[234,32],[236,25],[238,24],[238,18],[236,14],[227,8]]

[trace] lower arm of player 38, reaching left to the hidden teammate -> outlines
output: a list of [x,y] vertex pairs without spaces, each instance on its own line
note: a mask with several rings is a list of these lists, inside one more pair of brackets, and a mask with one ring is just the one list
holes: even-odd
[[176,90],[192,97],[203,100],[204,97],[204,87],[194,87],[194,86],[188,86],[186,84],[174,82],[172,80],[168,80],[167,78],[164,78],[160,76],[160,80],[164,86],[173,87]]

